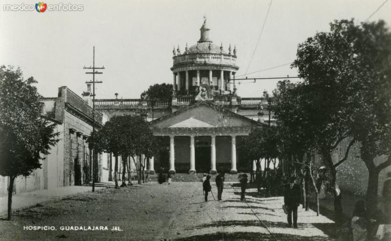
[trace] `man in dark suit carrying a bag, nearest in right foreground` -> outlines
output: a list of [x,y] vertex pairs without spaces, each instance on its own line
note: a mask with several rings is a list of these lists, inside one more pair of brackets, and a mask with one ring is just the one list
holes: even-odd
[[285,185],[284,190],[284,205],[288,210],[288,225],[297,228],[297,207],[301,199],[300,177],[292,177],[291,182]]

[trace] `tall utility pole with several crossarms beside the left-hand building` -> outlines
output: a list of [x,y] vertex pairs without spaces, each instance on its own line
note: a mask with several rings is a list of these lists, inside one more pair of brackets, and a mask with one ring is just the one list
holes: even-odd
[[99,84],[102,81],[95,81],[95,74],[103,74],[96,69],[104,69],[105,66],[95,67],[95,46],[92,53],[92,67],[83,67],[84,69],[92,69],[92,72],[86,72],[86,74],[92,74],[92,81],[86,81],[86,84],[92,84],[92,192],[95,192],[95,176],[97,171],[97,154],[95,152],[95,83]]

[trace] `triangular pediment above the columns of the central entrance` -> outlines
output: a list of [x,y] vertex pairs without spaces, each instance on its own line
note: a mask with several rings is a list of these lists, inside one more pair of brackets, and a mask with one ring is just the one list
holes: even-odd
[[261,123],[208,102],[197,102],[150,123],[152,128],[229,128],[254,125]]

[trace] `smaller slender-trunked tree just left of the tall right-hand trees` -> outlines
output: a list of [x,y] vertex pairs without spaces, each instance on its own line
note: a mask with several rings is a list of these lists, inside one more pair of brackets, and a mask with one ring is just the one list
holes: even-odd
[[[310,153],[314,152],[315,146],[312,141],[310,115],[306,114],[304,109],[304,89],[302,87],[300,83],[291,83],[289,80],[280,81],[273,91],[275,101],[273,111],[277,117],[281,159],[289,160],[290,166],[293,167],[294,170],[288,170],[289,174],[299,171],[303,176],[303,206],[306,211],[309,210],[309,183],[313,184],[317,215],[319,215],[319,190],[313,179],[313,165],[310,158]],[[305,154],[306,158],[304,159]]]

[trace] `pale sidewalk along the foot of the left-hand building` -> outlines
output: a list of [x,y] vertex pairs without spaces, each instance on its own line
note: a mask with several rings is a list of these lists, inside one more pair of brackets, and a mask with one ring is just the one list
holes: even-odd
[[[95,190],[105,189],[96,187]],[[53,190],[38,190],[33,192],[20,193],[12,196],[12,211],[31,207],[46,201],[58,201],[78,193],[91,192],[91,187],[68,186],[58,187]],[[8,196],[0,197],[0,217],[6,216],[8,211]]]

